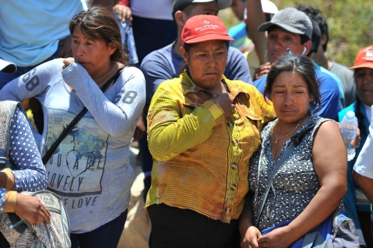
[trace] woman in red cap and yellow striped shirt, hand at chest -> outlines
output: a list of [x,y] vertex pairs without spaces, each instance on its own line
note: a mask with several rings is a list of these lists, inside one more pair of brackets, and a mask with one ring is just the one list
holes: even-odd
[[216,16],[188,19],[183,71],[151,101],[150,247],[240,247],[249,159],[276,114],[254,86],[222,75],[231,40]]

